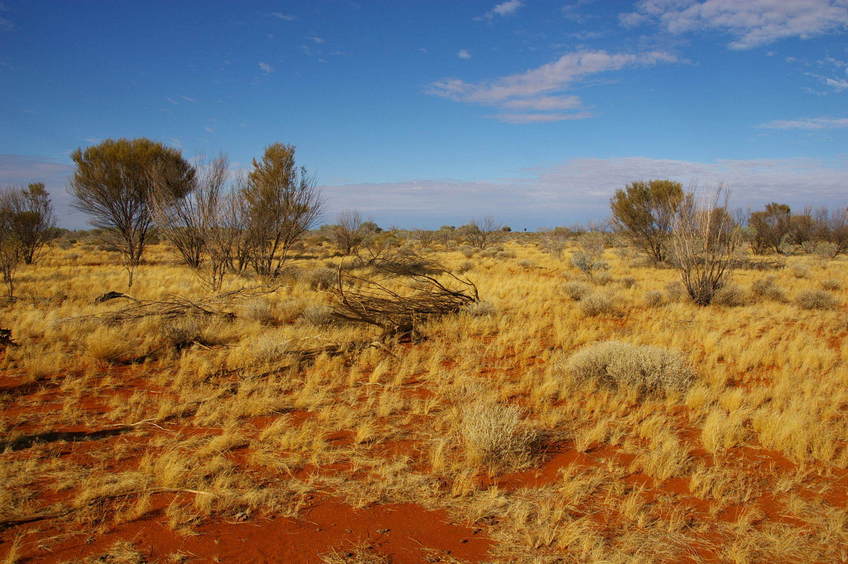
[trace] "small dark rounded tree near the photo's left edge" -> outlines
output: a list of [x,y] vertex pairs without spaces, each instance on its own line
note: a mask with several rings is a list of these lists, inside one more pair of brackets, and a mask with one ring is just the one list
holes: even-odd
[[33,264],[53,237],[56,216],[44,184],[33,183],[18,192],[12,199],[16,208],[17,235],[23,253],[21,258],[25,264]]

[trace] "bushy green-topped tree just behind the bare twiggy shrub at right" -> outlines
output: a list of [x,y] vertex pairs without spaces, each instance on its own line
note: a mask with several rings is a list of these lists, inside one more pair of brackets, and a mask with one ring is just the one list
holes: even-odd
[[610,201],[613,226],[656,262],[667,258],[674,214],[683,201],[683,185],[671,180],[631,182]]

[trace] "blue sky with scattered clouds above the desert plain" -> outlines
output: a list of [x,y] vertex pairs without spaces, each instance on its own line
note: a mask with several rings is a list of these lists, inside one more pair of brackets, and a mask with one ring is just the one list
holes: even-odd
[[298,148],[332,222],[602,219],[631,180],[848,203],[848,0],[0,4],[0,185],[77,147]]

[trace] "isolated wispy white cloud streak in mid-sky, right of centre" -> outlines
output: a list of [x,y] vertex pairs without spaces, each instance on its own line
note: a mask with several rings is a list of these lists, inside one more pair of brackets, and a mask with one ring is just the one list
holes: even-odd
[[[578,110],[577,96],[563,96],[564,90],[580,80],[602,72],[628,67],[672,63],[677,58],[666,52],[607,53],[606,51],[578,51],[563,55],[556,61],[524,73],[504,76],[495,80],[469,83],[457,78],[446,78],[430,84],[427,92],[433,96],[457,102],[494,106],[506,110]],[[586,117],[585,115],[581,117]],[[512,116],[513,123],[518,123]],[[543,118],[528,117],[528,121]],[[565,119],[550,119],[560,121]],[[526,123],[526,122],[525,122]]]

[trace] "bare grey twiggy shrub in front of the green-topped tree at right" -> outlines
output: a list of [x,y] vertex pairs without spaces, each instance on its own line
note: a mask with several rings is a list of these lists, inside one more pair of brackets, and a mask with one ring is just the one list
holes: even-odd
[[727,211],[728,192],[698,202],[686,194],[672,218],[669,249],[689,297],[709,305],[731,274],[739,244],[739,229]]

